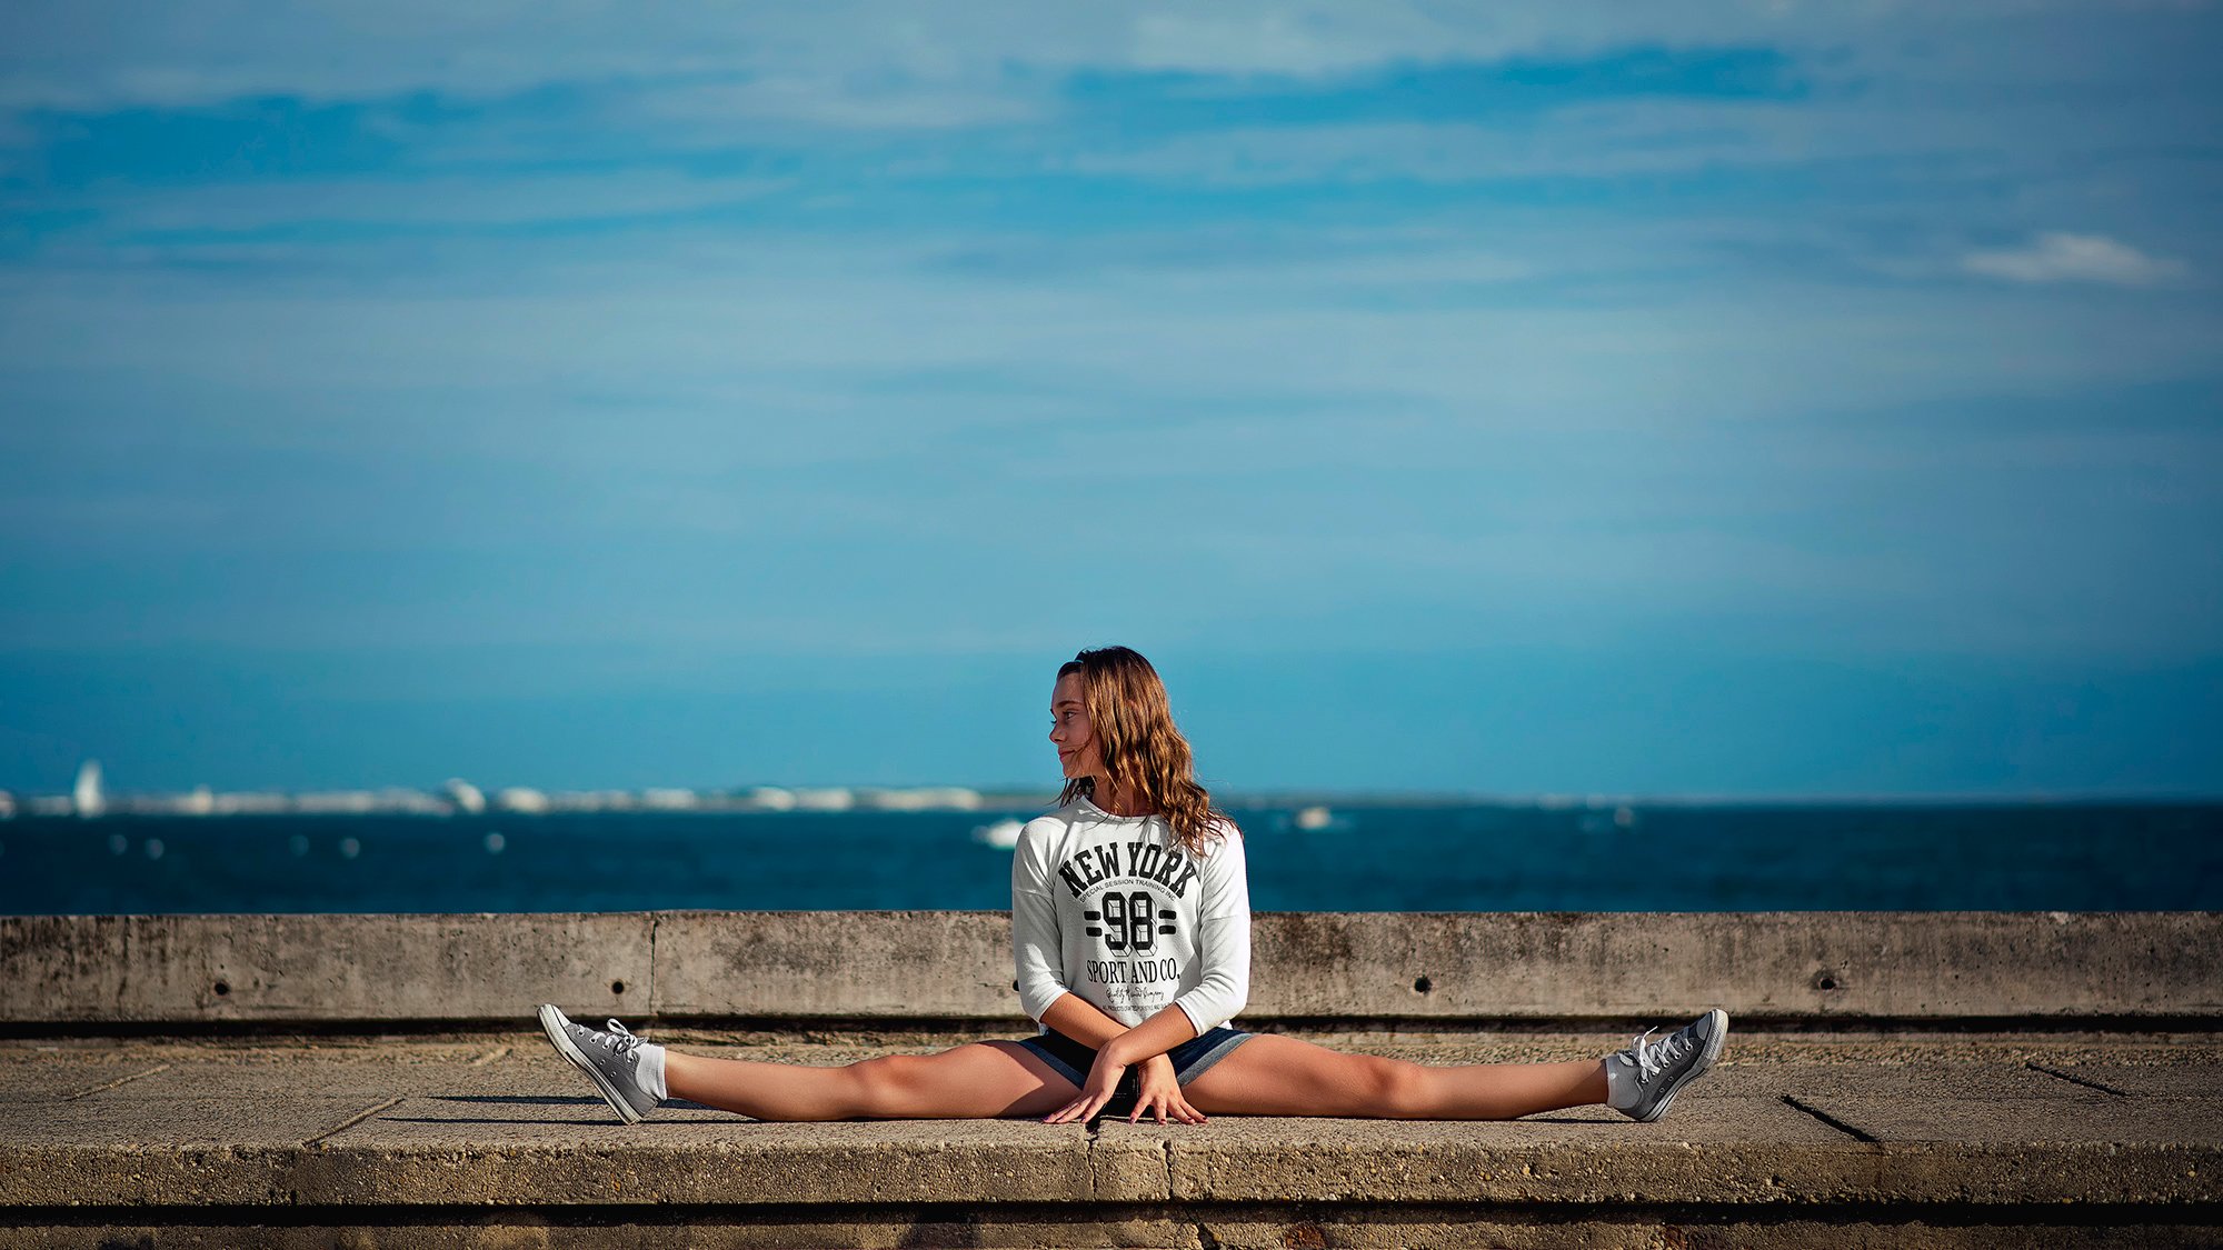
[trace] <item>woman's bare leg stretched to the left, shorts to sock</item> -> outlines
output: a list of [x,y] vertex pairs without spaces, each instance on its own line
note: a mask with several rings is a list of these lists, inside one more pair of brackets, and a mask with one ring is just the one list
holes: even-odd
[[887,1054],[847,1068],[665,1052],[665,1092],[756,1119],[1040,1117],[1080,1090],[1016,1041]]

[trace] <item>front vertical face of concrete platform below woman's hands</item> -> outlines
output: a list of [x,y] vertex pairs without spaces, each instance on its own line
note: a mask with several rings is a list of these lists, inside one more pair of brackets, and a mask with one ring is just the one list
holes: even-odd
[[[1601,1125],[1603,1128],[1603,1125]],[[1372,1130],[1329,1161],[1309,1159],[1303,1130],[1269,1150],[1156,1143],[876,1141],[834,1132],[762,1130],[754,1141],[687,1148],[0,1148],[4,1203],[31,1208],[293,1208],[293,1206],[876,1206],[969,1201],[1183,1203],[1481,1203],[1721,1206],[1910,1203],[2203,1203],[2223,1219],[2205,1174],[2214,1145],[2056,1143],[2012,1150],[1958,1145],[1505,1148]],[[1227,1179],[1240,1179],[1227,1185]],[[1285,1181],[1298,1181],[1283,1188]]]

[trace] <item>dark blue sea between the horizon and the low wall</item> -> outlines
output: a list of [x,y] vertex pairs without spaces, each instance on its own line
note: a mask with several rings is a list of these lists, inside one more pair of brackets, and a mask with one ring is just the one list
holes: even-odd
[[[1005,910],[1040,807],[0,823],[0,914]],[[1232,807],[1254,910],[2216,910],[2223,803]]]

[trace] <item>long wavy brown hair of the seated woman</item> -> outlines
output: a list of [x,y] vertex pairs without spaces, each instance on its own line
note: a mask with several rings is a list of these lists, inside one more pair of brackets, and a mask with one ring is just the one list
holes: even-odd
[[[1080,701],[1096,725],[1096,743],[1114,785],[1140,794],[1174,830],[1180,850],[1203,859],[1212,825],[1225,819],[1212,794],[1196,783],[1196,756],[1174,725],[1165,681],[1138,652],[1096,647],[1058,667],[1058,676],[1080,674]],[[1096,792],[1094,776],[1065,783],[1058,805]]]

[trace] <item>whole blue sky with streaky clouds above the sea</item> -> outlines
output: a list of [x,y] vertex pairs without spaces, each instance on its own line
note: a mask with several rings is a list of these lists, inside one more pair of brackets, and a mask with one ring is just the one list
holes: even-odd
[[0,787],[2223,790],[2212,4],[0,13]]

